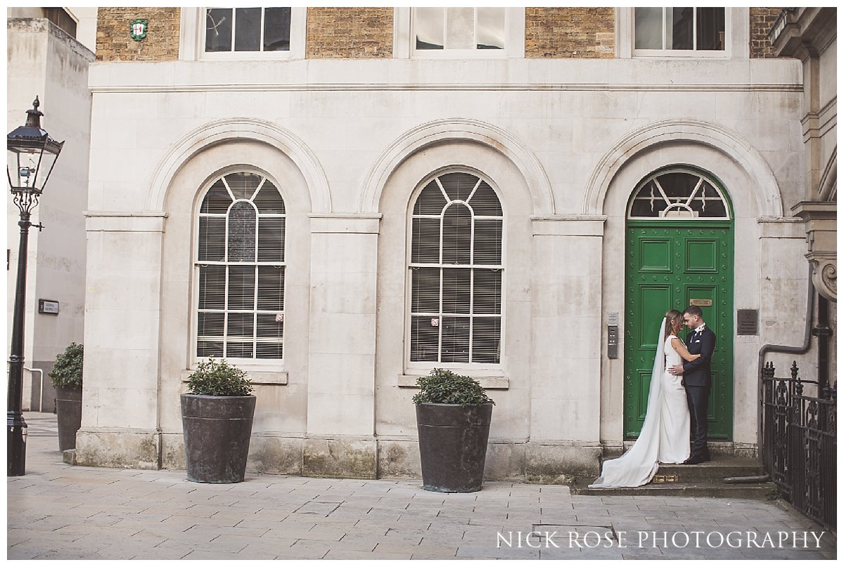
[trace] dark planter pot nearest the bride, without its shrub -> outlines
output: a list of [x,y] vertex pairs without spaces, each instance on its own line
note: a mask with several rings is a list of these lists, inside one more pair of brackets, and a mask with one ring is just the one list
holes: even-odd
[[422,488],[433,492],[480,490],[491,417],[491,403],[416,406]]

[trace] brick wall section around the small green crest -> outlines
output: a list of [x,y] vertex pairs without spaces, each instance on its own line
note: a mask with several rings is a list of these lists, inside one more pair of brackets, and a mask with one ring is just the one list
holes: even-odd
[[[179,8],[97,8],[97,61],[175,61]],[[129,22],[145,19],[143,41],[129,37]]]

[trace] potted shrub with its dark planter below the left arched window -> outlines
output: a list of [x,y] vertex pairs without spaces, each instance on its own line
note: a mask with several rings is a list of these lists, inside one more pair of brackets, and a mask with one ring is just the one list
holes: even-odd
[[200,362],[181,394],[187,479],[241,483],[252,436],[255,397],[246,372],[225,359]]

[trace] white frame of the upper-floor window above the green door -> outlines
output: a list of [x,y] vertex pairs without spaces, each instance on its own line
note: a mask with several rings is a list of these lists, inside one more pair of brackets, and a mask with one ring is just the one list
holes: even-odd
[[[705,8],[705,7],[704,7]],[[668,59],[747,59],[750,57],[750,10],[749,8],[724,8],[724,50],[695,51],[684,49],[635,49],[636,8],[615,8],[616,57],[621,59],[668,58]]]

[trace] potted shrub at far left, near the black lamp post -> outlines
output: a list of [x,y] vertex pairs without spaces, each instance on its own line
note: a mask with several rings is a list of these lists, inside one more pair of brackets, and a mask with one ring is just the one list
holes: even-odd
[[82,354],[81,344],[70,343],[47,373],[56,388],[59,451],[76,448],[76,432],[82,424]]

